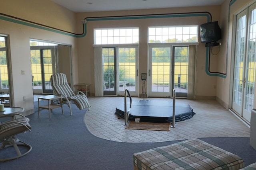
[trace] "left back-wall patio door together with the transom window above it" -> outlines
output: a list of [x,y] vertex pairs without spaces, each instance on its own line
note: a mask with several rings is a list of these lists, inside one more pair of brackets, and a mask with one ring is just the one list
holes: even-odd
[[[99,55],[102,55],[102,96],[122,96],[125,89],[132,96],[138,95],[138,43],[137,27],[94,29],[95,59],[100,60]],[[100,68],[98,64],[96,67]],[[101,95],[101,87],[96,93]]]

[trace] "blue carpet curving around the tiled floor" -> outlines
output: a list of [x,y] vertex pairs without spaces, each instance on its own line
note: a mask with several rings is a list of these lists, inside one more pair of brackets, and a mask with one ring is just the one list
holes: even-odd
[[[60,108],[54,109],[51,119],[46,109],[40,109],[40,117],[38,112],[29,115],[32,132],[17,137],[30,144],[32,151],[21,158],[0,162],[0,170],[132,170],[135,152],[178,142],[120,143],[100,139],[84,125],[85,111],[73,105],[73,116],[67,106],[64,106],[64,115]],[[256,162],[256,151],[250,146],[249,138],[201,140],[240,156],[246,166]],[[8,152],[1,150],[0,157]]]

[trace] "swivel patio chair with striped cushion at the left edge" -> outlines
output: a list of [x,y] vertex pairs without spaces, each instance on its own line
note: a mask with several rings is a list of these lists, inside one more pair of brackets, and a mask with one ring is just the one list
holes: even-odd
[[[32,147],[30,145],[20,141],[16,137],[16,135],[18,135],[20,133],[30,131],[31,127],[29,124],[29,119],[27,117],[25,117],[24,115],[21,115],[18,113],[13,113],[13,114],[19,115],[21,117],[0,123],[0,144],[1,144],[0,152],[1,151],[6,152],[6,151],[3,151],[2,149],[6,149],[8,147],[14,147],[17,155],[10,157],[10,155],[12,155],[12,149],[9,149],[9,150],[11,150],[10,154],[8,154],[9,156],[6,156],[6,154],[4,154],[4,158],[1,156],[0,161],[6,161],[6,160],[20,158],[21,156],[28,154],[28,152],[30,152],[32,150]],[[4,115],[2,115],[0,117],[4,117]],[[21,152],[18,146],[28,147],[28,150],[26,150],[24,152],[24,149],[22,149],[22,152]]]

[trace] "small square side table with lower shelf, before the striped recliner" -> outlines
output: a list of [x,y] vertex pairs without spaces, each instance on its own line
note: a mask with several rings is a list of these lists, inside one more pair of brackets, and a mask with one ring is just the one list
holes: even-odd
[[[60,105],[59,104],[53,104],[53,101],[57,100],[57,99],[60,99]],[[39,105],[39,103],[40,103],[39,100],[47,100],[48,101],[48,105],[40,106]],[[51,101],[51,103],[50,103],[50,101]],[[48,109],[49,119],[51,119],[50,110],[52,111],[52,109],[56,109],[58,107],[61,107],[62,115],[63,115],[62,98],[61,98],[61,96],[47,95],[47,96],[38,97],[38,117],[39,117],[39,113],[40,113],[40,108],[41,109]]]

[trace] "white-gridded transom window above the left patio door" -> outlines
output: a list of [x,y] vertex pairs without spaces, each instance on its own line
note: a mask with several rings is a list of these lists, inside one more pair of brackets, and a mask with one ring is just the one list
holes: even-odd
[[94,29],[94,44],[134,44],[139,42],[138,28]]

